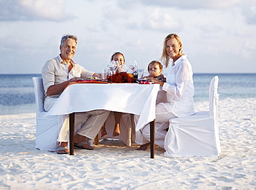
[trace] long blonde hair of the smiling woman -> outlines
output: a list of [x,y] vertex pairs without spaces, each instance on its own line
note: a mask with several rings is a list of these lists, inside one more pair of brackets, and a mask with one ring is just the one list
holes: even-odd
[[[163,42],[163,53],[161,55],[161,61],[165,64],[165,68],[168,66],[169,60],[170,60],[170,56],[166,52],[166,44],[167,44],[167,41],[172,38],[175,38],[179,44],[182,44],[181,38],[177,34],[170,34],[170,35],[167,35],[167,37],[165,37],[165,41]],[[179,49],[178,55],[180,55],[180,56],[184,55],[182,46],[181,46],[181,49]]]

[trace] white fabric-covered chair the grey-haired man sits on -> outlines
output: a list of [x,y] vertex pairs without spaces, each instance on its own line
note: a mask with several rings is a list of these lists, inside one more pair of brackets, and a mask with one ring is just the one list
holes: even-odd
[[36,104],[36,137],[35,148],[41,151],[57,150],[57,134],[58,134],[58,116],[46,115],[44,111],[44,86],[42,77],[33,77],[35,86],[35,104]]

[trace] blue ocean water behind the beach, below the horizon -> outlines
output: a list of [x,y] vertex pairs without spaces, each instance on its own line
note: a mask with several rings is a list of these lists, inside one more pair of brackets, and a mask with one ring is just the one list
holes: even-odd
[[[211,79],[219,76],[219,99],[256,97],[256,74],[194,74],[194,102],[208,101]],[[0,75],[0,115],[35,113],[35,93],[30,75]]]

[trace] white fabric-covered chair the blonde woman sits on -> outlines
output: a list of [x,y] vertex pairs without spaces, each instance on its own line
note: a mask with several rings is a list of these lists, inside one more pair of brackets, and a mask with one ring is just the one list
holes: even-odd
[[165,136],[167,157],[219,155],[219,78],[210,82],[210,111],[197,112],[187,117],[171,119]]

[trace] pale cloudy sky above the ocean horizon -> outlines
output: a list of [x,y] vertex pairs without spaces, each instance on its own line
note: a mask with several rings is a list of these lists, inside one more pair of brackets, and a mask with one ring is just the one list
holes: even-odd
[[0,74],[41,73],[65,34],[87,70],[120,51],[146,71],[170,33],[194,73],[256,73],[256,0],[0,0],[0,29]]

